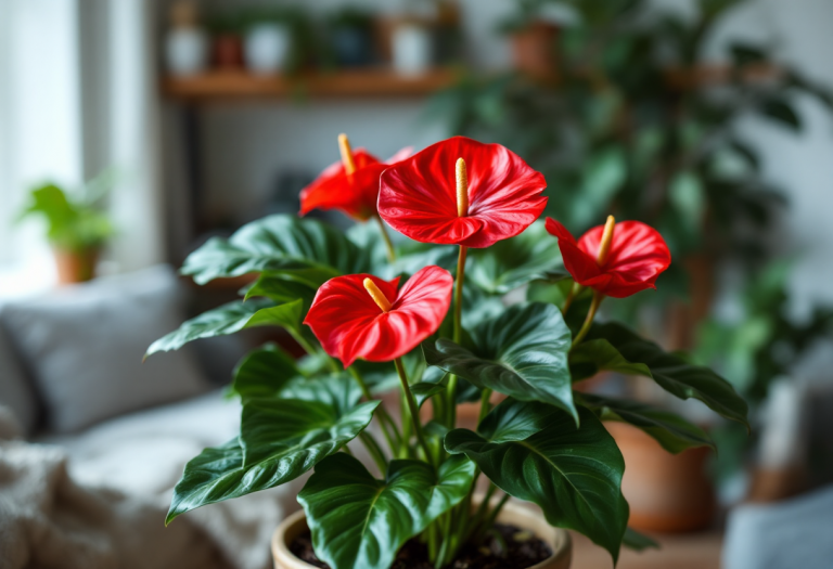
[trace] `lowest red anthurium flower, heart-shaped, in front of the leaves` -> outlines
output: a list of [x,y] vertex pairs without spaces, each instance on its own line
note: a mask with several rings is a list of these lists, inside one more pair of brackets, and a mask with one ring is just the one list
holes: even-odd
[[336,276],[318,289],[304,323],[345,367],[361,358],[405,355],[439,328],[451,303],[451,274],[426,267],[397,292],[399,279]]

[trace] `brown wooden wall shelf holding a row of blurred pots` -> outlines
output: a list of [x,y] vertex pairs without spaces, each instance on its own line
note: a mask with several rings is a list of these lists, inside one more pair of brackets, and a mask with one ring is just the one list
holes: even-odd
[[453,72],[437,69],[405,77],[389,69],[356,69],[299,77],[256,76],[246,72],[212,72],[188,78],[164,78],[163,90],[185,101],[315,98],[415,98],[453,83]]

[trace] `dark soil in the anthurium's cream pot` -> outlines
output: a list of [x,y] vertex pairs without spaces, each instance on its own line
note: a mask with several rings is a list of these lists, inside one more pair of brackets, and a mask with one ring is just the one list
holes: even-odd
[[[528,531],[502,523],[497,523],[495,531],[500,539],[490,534],[479,545],[466,545],[447,569],[526,569],[552,555],[550,547]],[[290,551],[309,565],[330,569],[316,557],[309,531],[295,538]],[[411,540],[399,549],[390,569],[434,569],[434,565],[428,560],[427,547]]]

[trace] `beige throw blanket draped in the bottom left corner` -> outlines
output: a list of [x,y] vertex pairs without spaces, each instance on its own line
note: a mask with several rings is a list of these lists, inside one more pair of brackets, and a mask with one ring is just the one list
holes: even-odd
[[11,440],[0,408],[1,569],[226,569],[205,531],[189,521],[165,528],[164,507],[67,475],[55,447]]

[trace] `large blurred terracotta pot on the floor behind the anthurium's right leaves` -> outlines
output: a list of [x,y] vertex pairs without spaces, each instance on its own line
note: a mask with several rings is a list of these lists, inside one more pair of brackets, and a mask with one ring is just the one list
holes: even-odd
[[628,526],[643,531],[682,532],[708,527],[715,491],[706,473],[712,450],[671,454],[642,430],[605,423],[625,457],[621,492],[630,504]]

